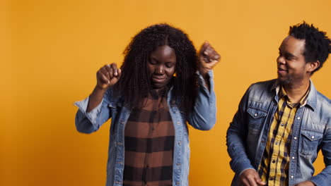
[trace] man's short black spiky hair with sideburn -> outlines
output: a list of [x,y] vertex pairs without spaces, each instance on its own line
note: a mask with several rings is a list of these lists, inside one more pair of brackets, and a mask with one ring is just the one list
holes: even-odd
[[322,68],[323,63],[327,60],[327,57],[331,53],[331,41],[326,36],[326,32],[318,30],[313,24],[308,25],[306,22],[294,25],[290,27],[289,35],[296,39],[305,39],[305,56],[306,63],[320,61],[320,66],[315,71]]

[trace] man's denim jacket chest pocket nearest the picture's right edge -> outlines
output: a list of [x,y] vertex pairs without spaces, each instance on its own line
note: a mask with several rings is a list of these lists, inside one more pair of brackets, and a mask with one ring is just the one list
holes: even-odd
[[317,149],[320,139],[323,137],[323,132],[315,130],[301,130],[301,144],[299,153],[301,156],[310,157],[313,154],[317,156]]

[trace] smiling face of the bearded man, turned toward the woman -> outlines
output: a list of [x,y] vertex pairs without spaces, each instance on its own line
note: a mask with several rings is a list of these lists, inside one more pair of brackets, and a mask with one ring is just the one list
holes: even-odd
[[306,63],[303,51],[305,39],[296,39],[293,36],[286,37],[279,46],[277,58],[278,80],[283,85],[301,85],[309,80],[309,63]]

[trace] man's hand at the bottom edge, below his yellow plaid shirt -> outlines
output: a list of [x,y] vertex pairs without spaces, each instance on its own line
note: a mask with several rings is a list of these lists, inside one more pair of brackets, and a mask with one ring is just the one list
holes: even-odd
[[262,182],[259,174],[253,169],[248,169],[243,171],[239,175],[239,186],[258,186],[258,185],[265,185],[265,182]]

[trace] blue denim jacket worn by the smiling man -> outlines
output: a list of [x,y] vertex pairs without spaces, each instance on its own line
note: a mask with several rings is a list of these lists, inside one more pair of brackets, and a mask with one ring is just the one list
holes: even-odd
[[[251,85],[240,101],[228,128],[226,142],[231,168],[238,176],[248,168],[257,170],[265,151],[269,127],[277,110],[277,80]],[[322,149],[325,169],[313,176],[318,151]],[[310,180],[318,186],[331,185],[331,101],[317,92],[310,80],[310,92],[294,118],[289,152],[289,185]]]

